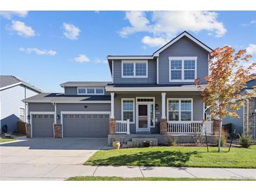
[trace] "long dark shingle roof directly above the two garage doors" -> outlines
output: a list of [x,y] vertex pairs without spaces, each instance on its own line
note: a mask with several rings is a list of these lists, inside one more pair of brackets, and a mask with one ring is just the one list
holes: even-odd
[[24,102],[93,102],[110,101],[110,95],[64,95],[63,93],[40,93]]

